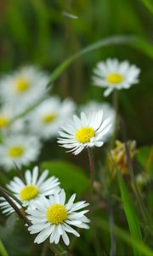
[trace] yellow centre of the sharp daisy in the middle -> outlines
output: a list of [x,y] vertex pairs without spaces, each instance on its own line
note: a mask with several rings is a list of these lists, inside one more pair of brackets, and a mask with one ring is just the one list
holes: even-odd
[[89,143],[91,137],[95,137],[95,131],[92,127],[82,127],[77,130],[75,137],[79,143]]

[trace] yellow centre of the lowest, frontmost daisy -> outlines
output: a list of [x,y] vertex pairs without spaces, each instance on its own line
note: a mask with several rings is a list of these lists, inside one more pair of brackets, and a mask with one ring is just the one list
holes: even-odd
[[54,204],[53,206],[49,207],[46,212],[46,217],[48,222],[51,224],[61,224],[67,218],[68,212],[65,206]]

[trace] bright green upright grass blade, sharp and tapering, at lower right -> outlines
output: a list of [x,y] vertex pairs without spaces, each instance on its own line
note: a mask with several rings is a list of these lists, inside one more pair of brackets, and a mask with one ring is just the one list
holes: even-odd
[[[133,206],[133,201],[130,198],[130,195],[128,193],[125,183],[123,182],[122,175],[120,172],[118,172],[118,181],[119,181],[120,191],[122,195],[124,212],[126,214],[127,224],[130,230],[130,234],[133,238],[141,242],[142,235],[141,235],[141,230],[139,226],[139,218],[137,216],[135,207]],[[135,247],[133,247],[133,255],[138,256],[138,255],[141,255],[141,253],[138,253]]]

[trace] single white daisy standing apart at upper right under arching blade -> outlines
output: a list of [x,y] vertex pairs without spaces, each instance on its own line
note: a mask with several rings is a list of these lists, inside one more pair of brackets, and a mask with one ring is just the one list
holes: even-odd
[[140,69],[130,65],[128,61],[119,62],[117,59],[100,61],[94,68],[94,84],[106,87],[104,96],[111,94],[114,89],[127,89],[132,84],[139,83]]

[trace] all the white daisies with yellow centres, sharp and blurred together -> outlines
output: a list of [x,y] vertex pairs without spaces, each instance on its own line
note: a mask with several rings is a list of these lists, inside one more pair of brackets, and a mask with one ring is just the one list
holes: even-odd
[[[129,88],[138,83],[139,68],[127,61],[99,62],[94,69],[94,84],[106,87],[105,96],[112,90]],[[88,102],[77,108],[71,99],[60,101],[58,96],[49,96],[49,76],[36,67],[22,67],[0,80],[0,166],[10,170],[16,166],[28,166],[37,160],[43,140],[57,138],[61,147],[73,154],[84,148],[101,147],[114,131],[115,112],[108,103]],[[65,202],[65,191],[59,187],[59,179],[48,177],[48,171],[39,177],[38,167],[25,172],[7,185],[14,204],[24,208],[31,221],[28,228],[37,234],[35,242],[48,239],[59,243],[60,236],[66,245],[67,233],[80,236],[77,228],[88,229],[88,218],[81,210],[86,201],[74,202],[72,195]],[[10,214],[14,208],[0,198],[3,213]]]

